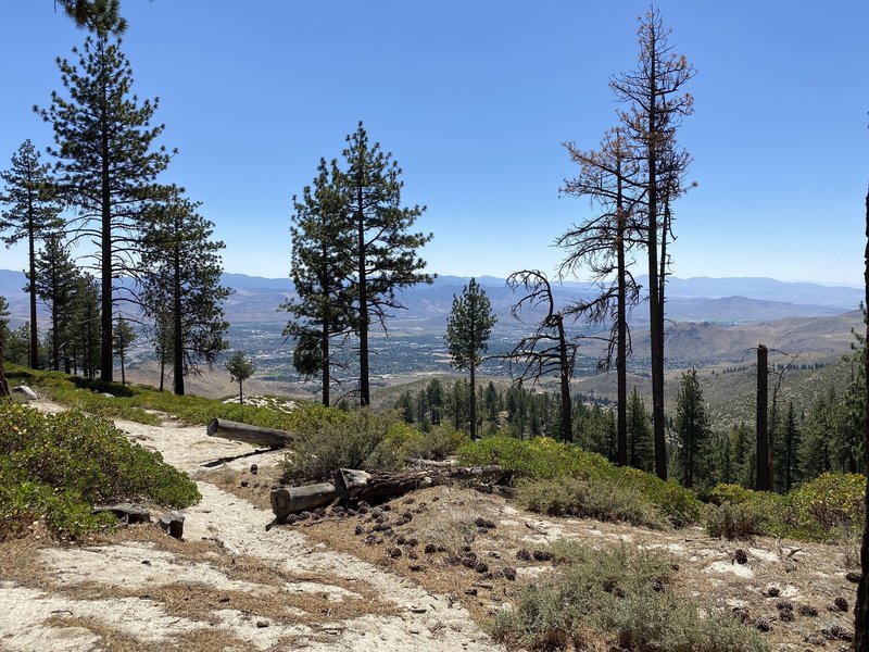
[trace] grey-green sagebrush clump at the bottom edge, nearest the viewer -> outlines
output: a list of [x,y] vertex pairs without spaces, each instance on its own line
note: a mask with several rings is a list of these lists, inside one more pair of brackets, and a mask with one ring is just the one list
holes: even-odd
[[[620,650],[759,652],[758,632],[730,614],[677,597],[666,557],[628,548],[597,551],[576,542],[552,548],[563,567],[522,589],[500,612],[493,637],[532,650],[584,649],[605,641]],[[705,612],[704,615],[702,615]]]

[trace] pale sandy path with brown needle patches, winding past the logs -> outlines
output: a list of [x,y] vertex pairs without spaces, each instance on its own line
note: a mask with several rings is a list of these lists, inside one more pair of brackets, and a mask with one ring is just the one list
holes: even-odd
[[[200,426],[117,426],[192,477],[207,462],[253,450],[209,438]],[[228,466],[279,459],[269,452]],[[298,529],[266,531],[270,512],[211,482],[198,486],[203,499],[185,511],[185,542],[151,527],[147,536],[8,554],[0,561],[0,649],[498,649],[451,597]]]

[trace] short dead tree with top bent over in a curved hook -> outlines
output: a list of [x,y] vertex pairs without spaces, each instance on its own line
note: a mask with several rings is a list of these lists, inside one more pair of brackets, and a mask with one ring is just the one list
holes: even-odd
[[[558,374],[562,398],[562,438],[574,440],[570,379],[577,343],[568,339],[564,328],[564,313],[555,310],[552,286],[545,275],[537,269],[522,269],[511,274],[507,286],[516,291],[524,288],[525,297],[513,306],[513,316],[521,321],[522,309],[545,311],[533,334],[524,337],[505,358],[509,361],[511,376],[517,381],[537,384],[542,377]],[[514,369],[518,368],[518,374]]]

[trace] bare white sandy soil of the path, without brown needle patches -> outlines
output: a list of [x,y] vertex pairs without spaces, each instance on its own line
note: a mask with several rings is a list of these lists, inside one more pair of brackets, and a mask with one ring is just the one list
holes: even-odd
[[[43,401],[36,405],[47,412],[59,410]],[[243,443],[210,438],[201,426],[116,423],[133,441],[159,451],[167,463],[191,477],[201,475],[205,463],[254,450]],[[267,452],[240,457],[227,466],[243,468],[252,462],[260,466],[276,464],[280,456],[280,452]],[[459,602],[430,593],[350,554],[327,550],[308,541],[298,529],[275,527],[266,531],[273,518],[270,512],[207,481],[200,480],[198,486],[202,501],[184,512],[186,541],[216,541],[219,546],[214,547],[215,555],[247,555],[273,568],[316,575],[317,579],[286,582],[282,587],[242,581],[227,576],[219,564],[207,560],[191,563],[148,542],[40,548],[36,553],[38,562],[56,591],[8,580],[0,560],[0,649],[21,652],[104,649],[98,634],[80,626],[83,620],[117,630],[142,643],[173,643],[182,634],[217,627],[231,631],[251,650],[482,652],[499,649]],[[337,584],[331,585],[330,578]],[[360,587],[360,593],[345,588],[348,584]],[[119,589],[137,597],[74,599],[68,597],[70,590],[64,590],[83,585],[90,589],[96,586],[97,592],[104,587],[108,593]],[[313,624],[308,620],[288,625],[286,619],[280,623],[231,609],[214,610],[207,619],[193,619],[168,614],[163,604],[149,597],[149,591],[156,588],[177,585],[204,585],[217,591],[244,592],[270,601],[312,593],[339,603],[366,593],[377,595],[388,609],[373,609],[371,614],[344,620],[331,619],[327,610],[322,620]],[[380,615],[385,611],[390,615]],[[65,626],[64,618],[75,620]],[[49,619],[52,622],[47,623]]]

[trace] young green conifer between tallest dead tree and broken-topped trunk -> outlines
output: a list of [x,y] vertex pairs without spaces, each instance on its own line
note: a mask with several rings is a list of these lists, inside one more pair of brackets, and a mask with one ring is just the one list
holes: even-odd
[[694,478],[704,469],[708,452],[709,421],[703,404],[703,390],[697,380],[697,371],[682,375],[676,406],[676,457],[685,487],[694,486]]

